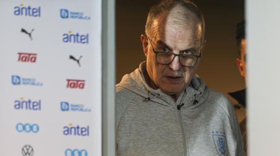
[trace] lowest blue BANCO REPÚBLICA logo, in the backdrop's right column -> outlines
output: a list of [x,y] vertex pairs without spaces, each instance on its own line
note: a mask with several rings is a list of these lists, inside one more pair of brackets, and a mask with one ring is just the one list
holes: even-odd
[[60,103],[62,111],[80,111],[80,112],[90,112],[90,108],[86,108],[83,104],[72,104],[69,102],[62,101]]

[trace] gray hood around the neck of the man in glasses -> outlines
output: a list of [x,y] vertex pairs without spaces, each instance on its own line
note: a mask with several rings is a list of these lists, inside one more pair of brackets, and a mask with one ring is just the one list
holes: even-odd
[[203,80],[198,76],[193,76],[189,85],[182,91],[177,101],[161,89],[151,88],[145,81],[144,71],[146,70],[146,61],[139,65],[130,74],[125,74],[122,81],[116,87],[123,87],[139,96],[143,97],[143,101],[154,101],[165,106],[176,106],[184,103],[182,109],[192,109],[201,105],[207,98],[208,87],[205,86]]

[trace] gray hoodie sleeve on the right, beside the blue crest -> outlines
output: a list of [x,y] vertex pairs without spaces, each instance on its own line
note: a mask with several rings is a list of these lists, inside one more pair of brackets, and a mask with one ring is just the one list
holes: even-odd
[[244,143],[243,143],[243,140],[242,140],[242,135],[241,135],[239,123],[238,123],[238,120],[237,120],[235,110],[232,106],[232,103],[226,95],[221,94],[219,92],[216,92],[216,94],[218,94],[218,96],[217,96],[218,98],[216,99],[216,100],[218,100],[217,102],[220,104],[221,107],[223,107],[223,109],[229,115],[229,120],[231,122],[230,124],[232,126],[233,133],[235,135],[235,139],[236,139],[236,143],[237,143],[237,148],[236,148],[235,153],[238,156],[246,155],[245,150],[244,150]]

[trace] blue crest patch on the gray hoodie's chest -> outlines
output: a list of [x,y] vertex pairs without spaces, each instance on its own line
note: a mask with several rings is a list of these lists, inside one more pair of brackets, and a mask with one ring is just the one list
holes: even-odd
[[214,144],[220,156],[228,155],[228,144],[226,134],[224,132],[212,132]]

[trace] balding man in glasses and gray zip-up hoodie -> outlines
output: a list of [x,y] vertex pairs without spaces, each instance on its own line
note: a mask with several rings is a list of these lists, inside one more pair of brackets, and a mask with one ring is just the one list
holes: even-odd
[[205,23],[189,1],[151,8],[141,35],[147,61],[116,86],[118,155],[244,155],[225,95],[195,75]]

